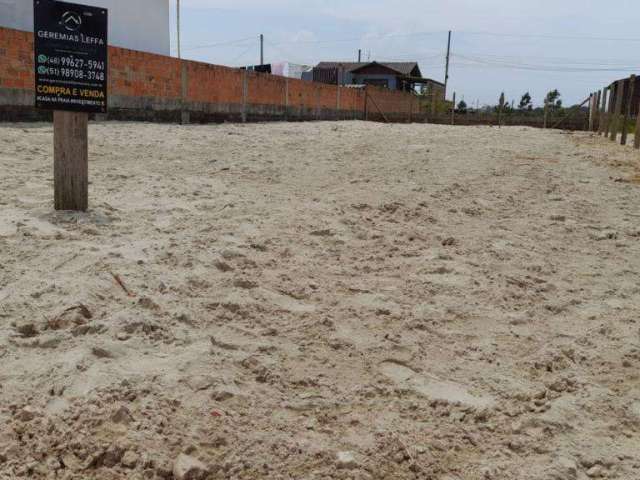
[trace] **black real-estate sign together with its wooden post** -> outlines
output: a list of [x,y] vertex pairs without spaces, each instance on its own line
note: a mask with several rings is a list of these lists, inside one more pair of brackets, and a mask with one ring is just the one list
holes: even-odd
[[53,110],[54,206],[89,208],[88,123],[107,112],[104,8],[34,0],[35,106]]

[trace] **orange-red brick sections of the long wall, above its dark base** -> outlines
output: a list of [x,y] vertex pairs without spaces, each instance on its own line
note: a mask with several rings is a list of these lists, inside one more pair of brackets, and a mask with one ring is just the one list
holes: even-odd
[[[240,111],[244,103],[244,77],[247,75],[247,113],[277,116],[290,109],[306,112],[305,118],[330,118],[338,113],[338,87],[283,77],[243,72],[238,69],[209,65],[150,53],[109,47],[109,97],[111,104],[126,109],[175,109],[181,99],[182,70],[186,69],[187,107],[208,104],[224,111],[224,106]],[[285,98],[288,83],[288,102]],[[29,32],[0,28],[0,93],[2,90],[33,92],[33,35]],[[383,89],[368,89],[369,95],[389,119],[406,121],[411,95]],[[365,93],[352,88],[340,88],[339,110],[363,117]],[[0,99],[3,96],[0,95]],[[21,97],[24,98],[24,95]],[[145,102],[141,103],[141,99]],[[369,102],[371,103],[371,102]],[[0,105],[1,106],[1,105]],[[30,105],[23,105],[29,107]],[[132,107],[133,108],[133,107]],[[210,109],[211,109],[210,108]],[[252,111],[253,109],[253,111]],[[368,105],[372,119],[378,119],[377,109]],[[267,112],[267,113],[265,113]],[[302,114],[300,114],[302,115]],[[342,115],[344,116],[344,115]],[[333,117],[332,117],[333,118]]]

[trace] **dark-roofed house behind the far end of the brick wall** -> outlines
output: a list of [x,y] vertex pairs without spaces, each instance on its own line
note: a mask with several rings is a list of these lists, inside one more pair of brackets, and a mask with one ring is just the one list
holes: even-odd
[[306,77],[333,85],[376,85],[390,90],[424,92],[444,98],[444,84],[424,78],[417,62],[320,62]]

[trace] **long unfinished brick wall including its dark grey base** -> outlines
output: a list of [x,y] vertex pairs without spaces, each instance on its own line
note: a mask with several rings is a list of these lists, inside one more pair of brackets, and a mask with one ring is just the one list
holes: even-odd
[[[0,120],[46,117],[32,107],[33,34],[0,28]],[[368,88],[384,117],[408,121],[412,95]],[[361,89],[109,47],[109,116],[176,121],[336,120],[383,116]]]

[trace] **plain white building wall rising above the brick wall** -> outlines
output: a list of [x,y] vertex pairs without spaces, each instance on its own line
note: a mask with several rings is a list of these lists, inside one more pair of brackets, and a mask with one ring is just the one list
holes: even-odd
[[[169,55],[169,0],[77,0],[109,9],[109,44]],[[33,31],[33,0],[0,0],[0,26]]]

